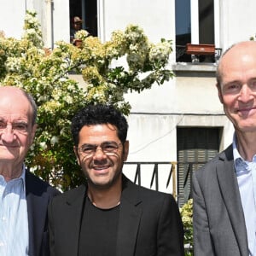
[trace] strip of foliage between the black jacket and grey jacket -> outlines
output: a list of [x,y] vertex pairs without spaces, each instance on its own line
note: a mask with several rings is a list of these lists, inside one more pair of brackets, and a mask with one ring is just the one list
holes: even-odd
[[180,213],[184,228],[184,245],[189,246],[185,255],[193,255],[193,200],[189,199],[183,207],[180,208]]

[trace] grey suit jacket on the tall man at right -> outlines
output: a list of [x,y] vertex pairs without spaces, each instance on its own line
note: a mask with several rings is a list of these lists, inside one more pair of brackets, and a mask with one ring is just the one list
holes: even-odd
[[192,196],[195,256],[248,256],[231,145],[194,172]]

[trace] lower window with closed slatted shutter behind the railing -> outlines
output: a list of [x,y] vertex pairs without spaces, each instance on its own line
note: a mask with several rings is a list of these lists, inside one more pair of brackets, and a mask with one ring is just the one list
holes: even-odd
[[190,198],[192,173],[218,154],[220,128],[177,128],[177,202]]

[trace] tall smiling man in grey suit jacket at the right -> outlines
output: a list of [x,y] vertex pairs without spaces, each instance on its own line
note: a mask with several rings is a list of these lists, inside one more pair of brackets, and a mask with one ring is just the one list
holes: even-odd
[[256,255],[256,42],[224,52],[217,87],[235,133],[193,176],[195,256]]

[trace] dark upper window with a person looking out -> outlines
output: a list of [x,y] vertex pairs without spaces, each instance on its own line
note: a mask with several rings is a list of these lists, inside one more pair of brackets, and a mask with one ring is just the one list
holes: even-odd
[[69,0],[70,26],[74,16],[83,20],[82,28],[96,37],[97,32],[97,1],[96,0]]

